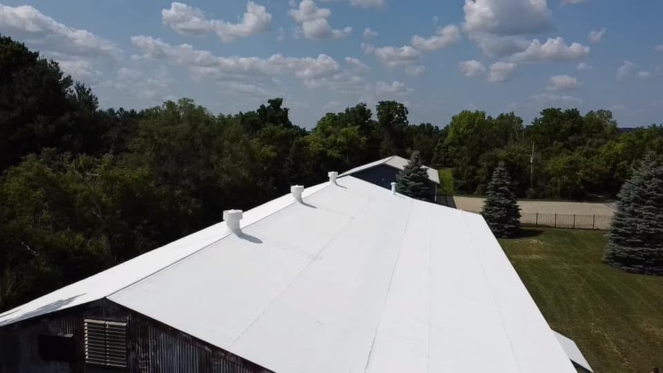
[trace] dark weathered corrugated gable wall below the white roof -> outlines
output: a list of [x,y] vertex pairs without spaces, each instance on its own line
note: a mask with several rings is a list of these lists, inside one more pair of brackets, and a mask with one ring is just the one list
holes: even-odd
[[[99,370],[99,367],[95,369],[94,365],[84,363],[85,318],[126,321],[126,372],[269,372],[108,300],[0,328],[0,372],[124,372],[106,368]],[[39,334],[73,334],[76,345],[74,361],[41,360],[37,344]]]

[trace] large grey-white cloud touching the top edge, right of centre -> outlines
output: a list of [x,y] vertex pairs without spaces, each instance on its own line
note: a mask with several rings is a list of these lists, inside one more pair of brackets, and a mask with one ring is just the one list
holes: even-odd
[[523,35],[551,28],[546,0],[465,0],[463,10],[470,33]]

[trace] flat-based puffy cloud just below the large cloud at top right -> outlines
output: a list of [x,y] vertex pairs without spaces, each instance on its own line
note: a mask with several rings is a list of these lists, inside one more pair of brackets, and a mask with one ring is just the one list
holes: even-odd
[[561,37],[548,39],[544,44],[541,44],[539,39],[534,39],[526,50],[515,53],[511,59],[513,61],[572,61],[587,57],[589,50],[588,46],[578,43],[567,46]]

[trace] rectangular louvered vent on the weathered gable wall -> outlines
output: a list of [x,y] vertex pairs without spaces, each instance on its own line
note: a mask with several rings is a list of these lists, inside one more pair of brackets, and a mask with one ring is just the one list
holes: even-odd
[[86,318],[85,362],[126,367],[126,323]]

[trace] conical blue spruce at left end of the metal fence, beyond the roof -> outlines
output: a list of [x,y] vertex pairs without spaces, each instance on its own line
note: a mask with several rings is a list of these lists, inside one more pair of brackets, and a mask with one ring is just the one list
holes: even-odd
[[499,162],[492,173],[481,215],[497,237],[513,237],[518,233],[520,208],[504,162]]

